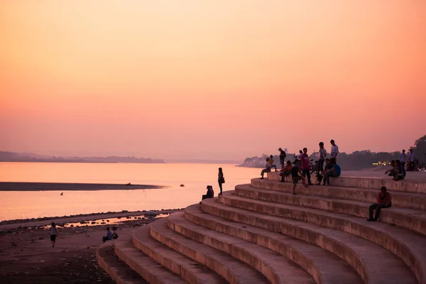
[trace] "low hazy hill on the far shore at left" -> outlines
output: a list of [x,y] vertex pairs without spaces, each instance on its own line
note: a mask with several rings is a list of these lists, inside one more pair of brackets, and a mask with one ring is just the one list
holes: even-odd
[[14,153],[0,151],[0,162],[34,162],[34,163],[165,163],[165,160],[136,157],[55,157],[31,153]]

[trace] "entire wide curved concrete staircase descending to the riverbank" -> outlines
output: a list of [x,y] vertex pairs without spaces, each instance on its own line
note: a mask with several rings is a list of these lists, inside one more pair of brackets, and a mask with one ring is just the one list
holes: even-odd
[[[302,187],[278,173],[107,242],[116,283],[425,283],[426,182],[341,177]],[[393,207],[366,222],[385,185]]]

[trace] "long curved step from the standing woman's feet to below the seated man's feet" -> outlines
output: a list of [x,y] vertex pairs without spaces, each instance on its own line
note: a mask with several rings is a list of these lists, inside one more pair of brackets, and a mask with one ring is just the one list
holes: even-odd
[[219,196],[219,202],[231,207],[296,219],[361,236],[395,253],[413,269],[421,283],[426,283],[426,238],[414,231],[383,222],[366,222],[365,219],[347,214],[252,200],[232,195],[230,192],[224,192],[224,195]]

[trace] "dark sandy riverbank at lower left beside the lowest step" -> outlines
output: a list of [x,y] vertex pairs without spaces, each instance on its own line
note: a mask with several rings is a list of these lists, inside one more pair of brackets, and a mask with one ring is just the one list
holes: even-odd
[[[126,219],[117,224],[119,238],[155,219]],[[1,283],[108,283],[109,275],[97,266],[95,249],[102,244],[106,226],[58,227],[53,248],[49,229],[38,226],[0,231]]]

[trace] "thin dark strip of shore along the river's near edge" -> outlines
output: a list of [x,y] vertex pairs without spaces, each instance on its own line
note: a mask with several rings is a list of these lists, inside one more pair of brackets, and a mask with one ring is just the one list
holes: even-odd
[[87,222],[93,219],[109,219],[109,218],[121,218],[121,217],[133,217],[135,215],[148,215],[155,217],[158,214],[172,214],[174,212],[181,211],[182,209],[161,209],[161,210],[139,210],[128,212],[123,210],[121,212],[101,212],[101,213],[90,213],[90,214],[77,214],[62,217],[41,217],[41,218],[30,218],[30,219],[13,219],[4,220],[0,222],[0,230],[16,229],[20,226],[44,226],[52,222],[55,223],[77,223]]

